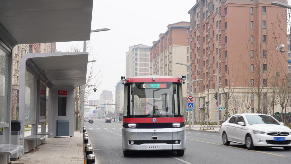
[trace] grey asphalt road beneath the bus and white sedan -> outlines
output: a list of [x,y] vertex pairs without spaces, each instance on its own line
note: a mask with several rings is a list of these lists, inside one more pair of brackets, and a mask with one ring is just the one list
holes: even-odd
[[85,126],[99,164],[291,163],[291,151],[281,147],[260,147],[252,151],[241,144],[224,146],[219,133],[188,130],[187,149],[182,157],[168,151],[139,151],[124,157],[120,122],[105,123],[103,119],[95,119],[94,124],[86,122]]

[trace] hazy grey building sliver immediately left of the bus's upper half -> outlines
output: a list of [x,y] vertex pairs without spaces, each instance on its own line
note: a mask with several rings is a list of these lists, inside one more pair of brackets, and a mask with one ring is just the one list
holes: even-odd
[[124,85],[121,83],[121,80],[116,83],[115,86],[115,104],[116,111],[118,113],[123,113],[123,102],[124,101]]

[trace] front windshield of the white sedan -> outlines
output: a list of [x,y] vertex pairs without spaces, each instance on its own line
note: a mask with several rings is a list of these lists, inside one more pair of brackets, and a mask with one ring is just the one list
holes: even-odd
[[250,125],[254,125],[254,124],[279,125],[278,121],[276,121],[273,117],[268,116],[268,115],[246,115],[246,119],[248,120]]

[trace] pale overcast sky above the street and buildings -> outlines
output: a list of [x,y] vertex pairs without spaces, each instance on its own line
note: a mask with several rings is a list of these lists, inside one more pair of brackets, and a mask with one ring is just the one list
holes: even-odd
[[[190,21],[187,12],[195,0],[94,0],[91,30],[108,28],[110,31],[91,33],[88,51],[94,54],[95,72],[101,69],[102,82],[89,96],[99,99],[102,90],[112,91],[115,100],[115,86],[120,76],[125,76],[125,52],[129,46],[144,44],[152,46],[167,25]],[[76,20],[77,21],[77,20]],[[66,52],[77,42],[56,43],[58,51]],[[83,41],[79,42],[81,51]],[[87,52],[88,52],[87,51]],[[91,60],[91,59],[89,59]]]

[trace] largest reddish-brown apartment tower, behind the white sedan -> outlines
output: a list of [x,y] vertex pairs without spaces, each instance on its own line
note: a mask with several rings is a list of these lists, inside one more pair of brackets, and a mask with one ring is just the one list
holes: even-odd
[[[209,96],[211,120],[217,122],[217,106],[213,98],[217,91],[217,77],[214,73],[219,75],[219,84],[222,85],[220,90],[225,91],[218,100],[219,107],[224,107],[226,102],[221,98],[229,96],[226,92],[228,87],[235,88],[237,93],[252,86],[256,89],[259,84],[267,88],[270,86],[268,78],[281,69],[278,63],[287,69],[288,63],[281,58],[281,54],[276,55],[275,47],[275,38],[280,40],[280,45],[287,44],[287,37],[282,34],[284,31],[274,28],[275,22],[286,21],[282,20],[283,17],[277,17],[285,9],[271,5],[272,2],[273,0],[198,0],[188,11],[191,75],[193,79],[203,79],[195,82],[193,89],[199,97],[198,121],[201,121],[200,118],[205,113],[205,99]],[[286,3],[283,0],[281,2]],[[285,29],[287,33],[287,28]],[[260,76],[256,70],[260,70]],[[256,112],[258,98],[251,95],[249,112]],[[267,98],[265,95],[267,92],[262,97]],[[239,95],[236,104],[241,100]]]

